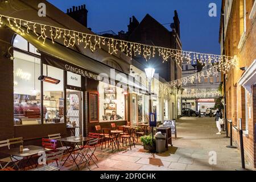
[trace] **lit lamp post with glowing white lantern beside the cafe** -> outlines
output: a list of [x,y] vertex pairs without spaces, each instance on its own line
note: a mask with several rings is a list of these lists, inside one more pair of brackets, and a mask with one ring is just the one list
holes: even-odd
[[[154,68],[145,68],[145,73],[148,81],[148,93],[149,93],[149,113],[152,113],[151,105],[151,81],[154,78],[155,69]],[[150,115],[151,117],[151,115]],[[156,121],[155,121],[156,122]],[[151,124],[151,123],[150,123]],[[154,126],[152,126],[152,151],[154,152]]]

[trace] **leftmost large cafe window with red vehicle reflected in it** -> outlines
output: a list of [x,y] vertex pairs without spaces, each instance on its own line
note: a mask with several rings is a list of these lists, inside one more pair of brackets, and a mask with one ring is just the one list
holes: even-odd
[[40,59],[17,51],[14,57],[14,125],[40,124]]

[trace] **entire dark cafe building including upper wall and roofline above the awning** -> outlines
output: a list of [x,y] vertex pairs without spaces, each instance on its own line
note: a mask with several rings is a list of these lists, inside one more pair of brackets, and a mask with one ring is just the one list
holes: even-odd
[[[38,16],[38,4],[42,2],[47,7],[45,17]],[[76,19],[77,14],[87,14],[84,5],[65,14],[47,1],[0,3],[1,14],[6,16],[94,34],[86,28],[86,16]],[[2,20],[0,84],[5,86],[1,86],[0,101],[5,104],[0,106],[0,140],[23,137],[28,144],[40,142],[48,134],[87,135],[96,131],[96,125],[104,128],[112,122],[125,125],[133,120],[137,125],[148,121],[148,90],[142,81],[129,75],[133,59],[125,53],[110,55],[106,46],[93,51],[79,42],[67,46],[64,36],[53,44],[50,34],[42,43],[35,35],[41,33],[40,27],[34,33],[26,29],[21,34]],[[41,76],[59,82],[50,84]],[[136,103],[140,108],[134,110]],[[118,115],[115,119],[113,111]]]

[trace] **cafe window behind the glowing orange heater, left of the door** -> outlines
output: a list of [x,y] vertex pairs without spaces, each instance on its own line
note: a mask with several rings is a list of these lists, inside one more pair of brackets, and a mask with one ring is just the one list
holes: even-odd
[[49,65],[43,65],[43,75],[60,80],[59,84],[43,82],[44,123],[63,123],[63,70]]

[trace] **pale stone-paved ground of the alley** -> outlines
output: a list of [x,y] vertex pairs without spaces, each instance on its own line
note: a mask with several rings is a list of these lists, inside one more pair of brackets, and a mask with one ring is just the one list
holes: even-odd
[[[177,123],[177,139],[163,154],[150,154],[137,144],[132,150],[97,151],[98,168],[92,170],[234,170],[241,167],[240,152],[226,148],[229,138],[216,135],[214,118],[181,118]],[[209,153],[210,152],[210,153]],[[216,154],[216,164],[209,164],[209,154]]]

